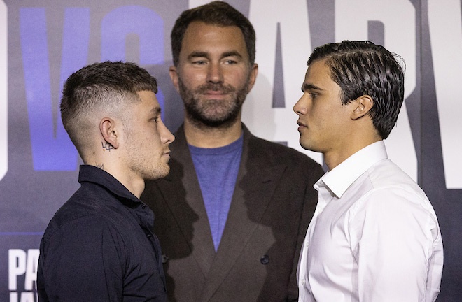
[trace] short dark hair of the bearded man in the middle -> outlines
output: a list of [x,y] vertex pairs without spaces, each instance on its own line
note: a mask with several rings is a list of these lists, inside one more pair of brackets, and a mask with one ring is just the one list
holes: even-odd
[[172,55],[174,65],[178,66],[183,38],[191,22],[204,22],[221,27],[237,26],[246,42],[248,60],[255,63],[255,29],[246,16],[223,1],[213,1],[197,8],[183,11],[172,29]]

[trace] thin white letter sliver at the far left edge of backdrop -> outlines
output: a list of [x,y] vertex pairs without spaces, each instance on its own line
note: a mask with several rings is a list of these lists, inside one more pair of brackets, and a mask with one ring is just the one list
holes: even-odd
[[0,0],[0,180],[8,171],[8,11]]

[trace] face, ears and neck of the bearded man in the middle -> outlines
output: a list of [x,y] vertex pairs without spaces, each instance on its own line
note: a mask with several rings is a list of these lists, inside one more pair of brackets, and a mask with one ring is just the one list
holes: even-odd
[[170,77],[186,108],[188,143],[228,145],[241,136],[241,106],[258,73],[239,27],[192,22]]

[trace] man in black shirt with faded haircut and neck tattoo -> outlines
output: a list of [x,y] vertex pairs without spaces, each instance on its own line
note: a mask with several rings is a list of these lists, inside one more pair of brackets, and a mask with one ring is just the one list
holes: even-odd
[[81,187],[40,245],[40,301],[167,301],[144,181],[169,173],[174,136],[160,119],[157,82],[141,67],[104,62],[64,84],[64,128],[82,157]]

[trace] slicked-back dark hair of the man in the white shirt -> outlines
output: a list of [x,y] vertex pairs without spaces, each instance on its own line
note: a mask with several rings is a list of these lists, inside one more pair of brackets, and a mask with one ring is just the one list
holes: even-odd
[[372,97],[370,118],[381,138],[387,138],[404,101],[402,57],[370,41],[342,41],[315,48],[308,66],[320,59],[326,59],[330,77],[342,89],[342,104],[363,95]]

